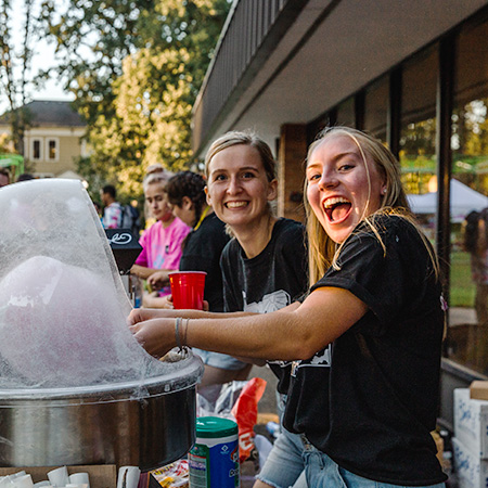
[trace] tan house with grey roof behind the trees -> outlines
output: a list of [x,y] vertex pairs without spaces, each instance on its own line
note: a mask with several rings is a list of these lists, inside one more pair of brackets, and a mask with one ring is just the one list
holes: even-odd
[[[39,178],[78,178],[76,159],[88,154],[81,137],[86,124],[70,102],[33,101],[30,128],[24,139],[24,156]],[[0,134],[10,133],[7,115],[0,117]]]

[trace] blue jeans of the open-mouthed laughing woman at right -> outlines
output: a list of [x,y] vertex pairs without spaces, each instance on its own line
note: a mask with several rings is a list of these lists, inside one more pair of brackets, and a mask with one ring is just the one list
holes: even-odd
[[[398,485],[374,481],[339,467],[329,455],[304,440],[305,472],[308,486],[313,488],[399,488]],[[424,487],[415,487],[424,488]],[[425,487],[426,488],[426,487]],[[446,488],[444,483],[428,488]]]

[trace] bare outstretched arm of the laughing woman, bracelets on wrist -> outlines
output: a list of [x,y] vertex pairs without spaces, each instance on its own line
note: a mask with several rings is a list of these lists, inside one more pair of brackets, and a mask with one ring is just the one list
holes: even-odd
[[[231,356],[308,359],[352,326],[367,310],[367,305],[350,292],[321,287],[300,306],[292,305],[271,313],[240,316],[245,312],[236,312],[232,317],[187,313],[184,317],[198,320],[190,320],[188,326],[187,321],[182,321],[179,336],[188,346]],[[164,356],[177,346],[175,317],[183,317],[178,313],[181,310],[152,316],[143,312],[134,310],[129,316],[130,329],[147,352]],[[171,318],[167,312],[172,312]]]

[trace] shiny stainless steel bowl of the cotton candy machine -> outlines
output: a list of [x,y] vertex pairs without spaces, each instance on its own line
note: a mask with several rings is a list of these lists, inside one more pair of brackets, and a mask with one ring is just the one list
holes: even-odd
[[[106,386],[0,389],[0,466],[170,463],[195,440],[193,380],[167,376]],[[194,372],[196,371],[196,376]]]

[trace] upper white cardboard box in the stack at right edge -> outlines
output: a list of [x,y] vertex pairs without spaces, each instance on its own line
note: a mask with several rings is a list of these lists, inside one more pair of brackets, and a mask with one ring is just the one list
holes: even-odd
[[488,459],[488,401],[471,399],[468,388],[454,389],[454,436],[477,458]]

